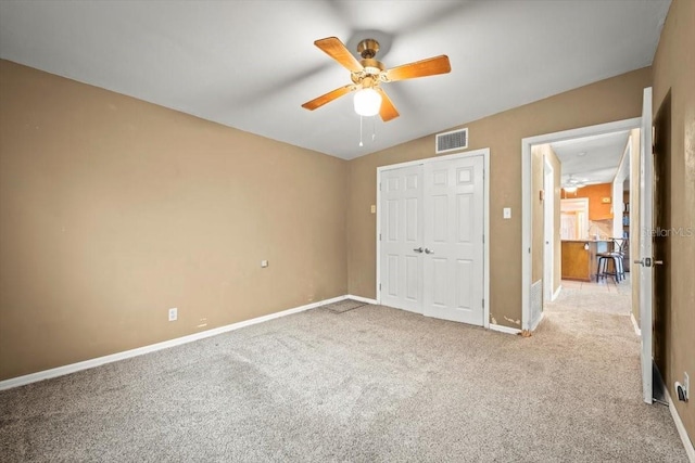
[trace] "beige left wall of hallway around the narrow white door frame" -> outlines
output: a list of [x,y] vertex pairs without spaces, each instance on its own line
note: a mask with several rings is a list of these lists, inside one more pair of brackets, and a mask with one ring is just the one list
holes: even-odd
[[[553,229],[555,230],[555,236],[553,242],[553,293],[561,284],[561,263],[563,263],[563,244],[560,240],[560,181],[561,169],[560,159],[553,151],[549,144],[540,144],[531,146],[531,283],[534,283],[543,279],[544,272],[544,245],[545,241],[545,217],[543,201],[540,201],[539,192],[544,189],[544,159],[547,159],[551,166],[553,166],[553,183],[555,190],[552,192],[544,192],[544,194],[553,195]],[[545,296],[545,294],[543,294]]]

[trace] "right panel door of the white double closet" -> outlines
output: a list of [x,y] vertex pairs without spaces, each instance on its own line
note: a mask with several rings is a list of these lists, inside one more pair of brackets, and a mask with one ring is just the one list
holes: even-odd
[[424,313],[483,324],[483,157],[425,165]]

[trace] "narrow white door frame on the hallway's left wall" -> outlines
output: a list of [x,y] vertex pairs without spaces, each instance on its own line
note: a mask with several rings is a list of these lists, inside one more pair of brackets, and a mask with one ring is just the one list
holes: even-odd
[[[543,288],[545,300],[554,300],[555,286],[555,169],[543,156]],[[541,308],[541,311],[543,309]]]

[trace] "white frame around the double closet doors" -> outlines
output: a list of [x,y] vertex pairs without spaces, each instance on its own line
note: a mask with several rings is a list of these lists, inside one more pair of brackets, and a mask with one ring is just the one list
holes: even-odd
[[381,233],[381,189],[379,188],[379,179],[381,172],[384,170],[399,169],[401,167],[409,167],[417,165],[425,165],[427,163],[433,163],[438,160],[458,159],[464,157],[482,156],[484,165],[483,173],[483,327],[490,327],[490,149],[484,147],[481,150],[467,151],[465,153],[448,154],[445,156],[427,157],[424,159],[409,160],[407,163],[391,164],[389,166],[377,167],[377,304],[381,304],[381,291],[379,290],[379,282],[381,281],[381,240],[379,235]]

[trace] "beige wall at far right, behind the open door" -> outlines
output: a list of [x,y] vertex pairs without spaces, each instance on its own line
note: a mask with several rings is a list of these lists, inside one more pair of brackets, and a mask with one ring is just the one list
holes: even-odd
[[[654,115],[671,91],[671,224],[695,233],[695,2],[673,0],[654,57]],[[666,339],[670,352],[666,384],[691,376],[695,397],[695,234],[671,237],[671,313]],[[675,402],[691,440],[695,440],[695,400]]]

